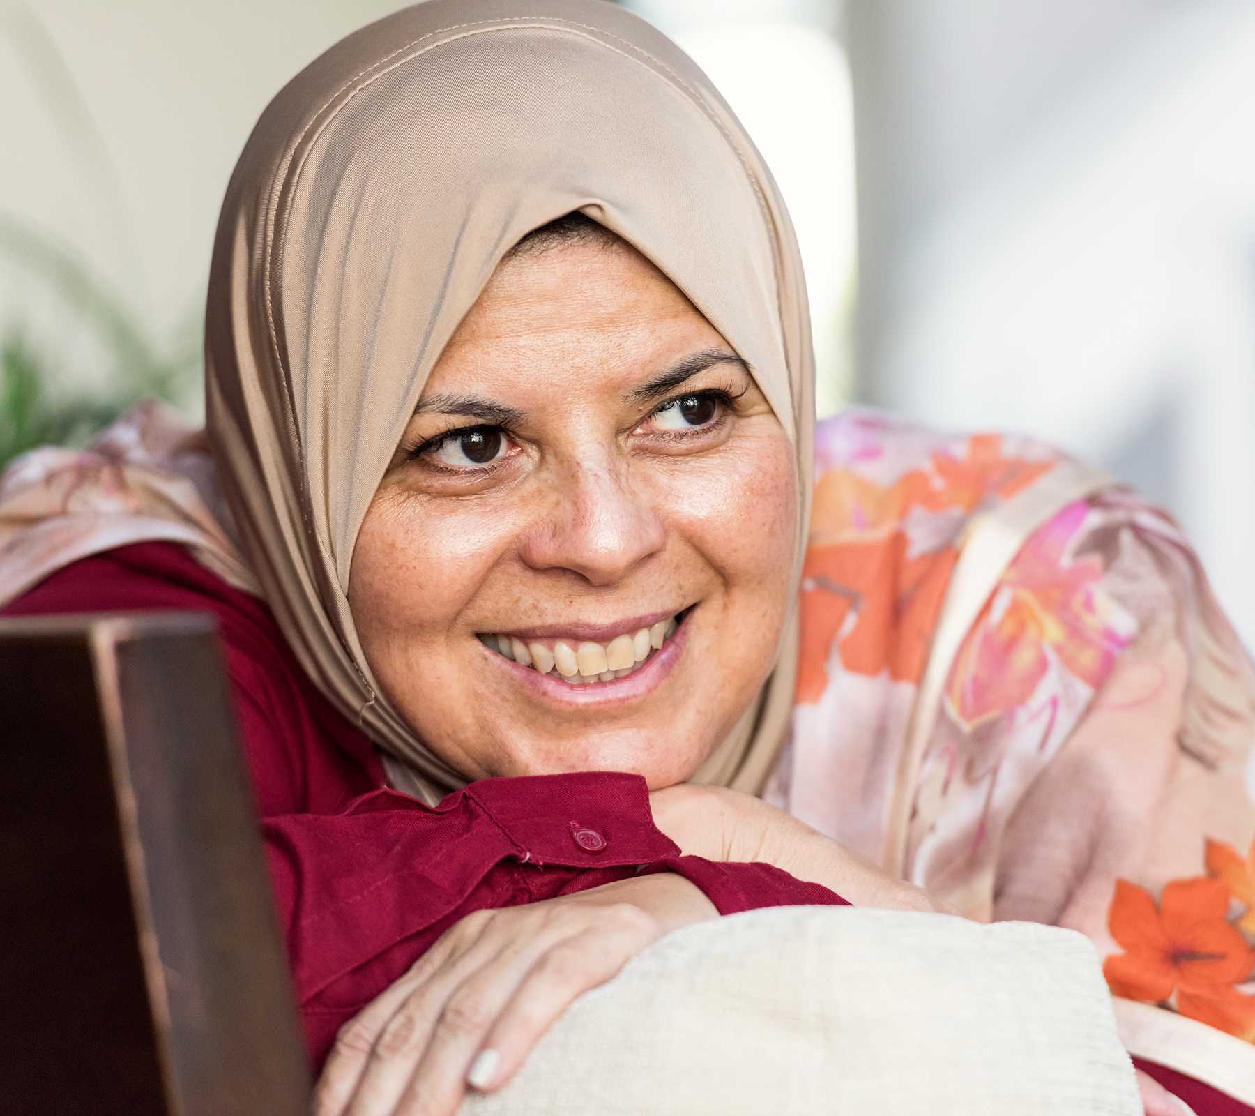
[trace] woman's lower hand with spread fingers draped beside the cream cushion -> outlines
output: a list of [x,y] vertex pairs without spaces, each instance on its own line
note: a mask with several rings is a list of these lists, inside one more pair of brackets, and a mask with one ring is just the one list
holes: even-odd
[[451,926],[336,1038],[316,1116],[437,1116],[492,1090],[580,993],[663,934],[715,918],[671,872],[479,910]]

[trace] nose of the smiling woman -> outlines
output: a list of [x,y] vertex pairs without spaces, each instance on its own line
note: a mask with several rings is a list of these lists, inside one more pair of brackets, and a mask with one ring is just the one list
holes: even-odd
[[610,585],[665,544],[658,510],[635,491],[626,471],[581,466],[567,472],[523,540],[536,570],[566,569],[592,585]]

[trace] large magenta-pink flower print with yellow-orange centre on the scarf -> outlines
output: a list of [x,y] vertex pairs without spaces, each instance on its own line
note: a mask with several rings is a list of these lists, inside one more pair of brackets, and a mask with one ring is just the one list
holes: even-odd
[[955,657],[946,690],[955,721],[971,729],[1025,704],[1049,669],[1048,652],[1097,689],[1128,645],[1097,582],[1097,555],[1068,557],[1083,528],[1078,501],[1033,534],[1003,575]]

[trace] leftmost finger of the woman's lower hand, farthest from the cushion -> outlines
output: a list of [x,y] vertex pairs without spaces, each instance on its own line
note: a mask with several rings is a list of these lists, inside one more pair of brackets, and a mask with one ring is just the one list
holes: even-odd
[[[484,911],[484,915],[489,915]],[[478,940],[487,918],[471,915],[442,934],[403,977],[388,985],[340,1028],[314,1096],[314,1116],[341,1116],[358,1090],[380,1033],[417,988],[446,964],[456,963]],[[457,931],[457,933],[454,933]]]

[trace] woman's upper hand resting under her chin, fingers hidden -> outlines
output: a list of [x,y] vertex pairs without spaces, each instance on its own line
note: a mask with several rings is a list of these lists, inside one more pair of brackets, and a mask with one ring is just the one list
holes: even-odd
[[855,906],[959,913],[753,795],[680,783],[654,791],[649,801],[654,825],[685,854],[771,864],[799,880],[822,884]]

